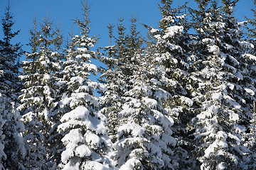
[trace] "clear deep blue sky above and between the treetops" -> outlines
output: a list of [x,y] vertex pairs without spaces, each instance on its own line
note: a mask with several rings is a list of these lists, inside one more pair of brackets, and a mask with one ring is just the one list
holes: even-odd
[[[157,27],[161,14],[158,8],[160,0],[87,0],[88,4],[92,4],[90,9],[91,18],[91,35],[99,35],[101,38],[97,46],[109,45],[108,39],[108,23],[118,23],[117,18],[122,12],[126,26],[129,25],[129,19],[132,14],[136,13],[139,17],[139,23],[146,23],[153,27]],[[193,1],[193,0],[191,0]],[[185,0],[180,0],[183,4]],[[177,6],[178,0],[174,0],[174,6]],[[8,5],[8,0],[0,0],[0,16],[4,16],[5,6]],[[23,44],[23,50],[29,51],[28,43],[30,35],[29,28],[33,27],[32,19],[36,15],[38,21],[46,16],[52,17],[55,23],[60,21],[63,30],[63,35],[68,36],[71,30],[73,21],[71,19],[82,18],[80,10],[80,0],[10,0],[11,13],[14,14],[15,26],[14,30],[21,30],[21,33],[16,36],[15,41]],[[195,7],[191,3],[191,7]],[[242,21],[243,16],[252,17],[252,12],[249,8],[253,8],[252,0],[240,0],[235,8],[235,15]],[[75,26],[73,26],[75,27]],[[141,27],[142,28],[142,27]],[[1,32],[1,30],[0,30]],[[2,38],[2,33],[0,33]],[[24,60],[24,59],[21,59]]]

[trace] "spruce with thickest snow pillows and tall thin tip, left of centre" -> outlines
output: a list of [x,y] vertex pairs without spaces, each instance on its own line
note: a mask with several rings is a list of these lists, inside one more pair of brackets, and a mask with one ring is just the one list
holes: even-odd
[[97,74],[92,64],[96,52],[90,50],[97,38],[89,37],[90,6],[82,3],[83,20],[76,19],[80,35],[75,35],[66,51],[63,63],[63,86],[65,93],[60,100],[63,116],[58,131],[63,134],[65,148],[61,154],[60,169],[110,169],[110,162],[104,157],[111,143],[105,128],[105,116],[97,113],[98,98],[92,87],[97,83],[89,79]]

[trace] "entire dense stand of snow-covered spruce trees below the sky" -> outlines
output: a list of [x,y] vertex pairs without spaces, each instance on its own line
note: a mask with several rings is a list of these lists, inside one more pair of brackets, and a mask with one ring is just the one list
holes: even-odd
[[256,169],[255,18],[238,22],[238,0],[172,2],[146,35],[121,16],[97,50],[87,1],[65,48],[60,26],[34,18],[21,62],[7,6],[0,169]]

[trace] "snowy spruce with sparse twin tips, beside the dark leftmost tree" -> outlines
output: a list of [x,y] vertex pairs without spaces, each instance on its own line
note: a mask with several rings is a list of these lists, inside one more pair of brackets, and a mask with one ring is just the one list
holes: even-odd
[[53,30],[53,23],[48,16],[40,24],[40,30],[30,31],[32,52],[26,54],[23,64],[24,89],[19,96],[23,112],[23,122],[26,125],[26,141],[28,141],[28,157],[26,169],[49,169],[54,165],[50,157],[50,129],[53,122],[50,120],[51,110],[55,106],[55,82],[58,81],[61,57],[53,47],[59,44],[58,33]]

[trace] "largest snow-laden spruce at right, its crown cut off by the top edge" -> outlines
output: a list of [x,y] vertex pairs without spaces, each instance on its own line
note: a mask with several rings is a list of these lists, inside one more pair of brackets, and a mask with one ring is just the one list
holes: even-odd
[[[255,56],[247,54],[252,45],[242,40],[233,16],[237,1],[196,1],[193,10],[198,39],[191,42],[196,61],[191,64],[189,91],[199,103],[191,157],[193,168],[249,169],[247,135],[252,102],[255,101]],[[249,159],[248,159],[249,158]]]

